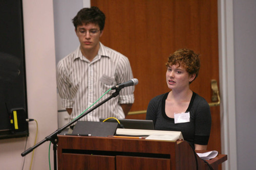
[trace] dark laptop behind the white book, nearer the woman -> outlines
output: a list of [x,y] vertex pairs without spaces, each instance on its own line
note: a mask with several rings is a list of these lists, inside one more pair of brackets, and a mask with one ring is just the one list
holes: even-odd
[[[106,118],[99,118],[100,122],[103,122]],[[140,119],[118,119],[124,129],[145,129],[155,130],[153,120],[140,120]],[[105,122],[116,122],[115,118],[110,118]],[[118,125],[119,126],[119,125]],[[120,126],[118,128],[121,128]]]

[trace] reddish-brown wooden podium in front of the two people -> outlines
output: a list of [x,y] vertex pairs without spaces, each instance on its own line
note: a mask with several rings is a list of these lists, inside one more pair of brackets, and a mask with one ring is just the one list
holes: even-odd
[[[210,169],[186,141],[58,135],[58,169]],[[208,163],[218,169],[227,155]]]

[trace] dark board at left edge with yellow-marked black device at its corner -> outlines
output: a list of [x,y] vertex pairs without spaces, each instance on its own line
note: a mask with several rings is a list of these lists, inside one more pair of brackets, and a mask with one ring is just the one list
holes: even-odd
[[26,118],[22,1],[0,0],[0,138],[28,135]]

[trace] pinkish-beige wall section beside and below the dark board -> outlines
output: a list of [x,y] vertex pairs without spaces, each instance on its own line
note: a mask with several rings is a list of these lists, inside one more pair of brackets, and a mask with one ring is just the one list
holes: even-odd
[[[57,96],[52,0],[23,0],[28,115],[38,122],[37,142],[57,129]],[[15,49],[14,49],[15,50]],[[35,122],[29,123],[27,148],[34,144]],[[26,138],[0,140],[0,169],[22,169]],[[35,149],[32,169],[49,169],[49,141]],[[51,167],[53,150],[51,144]],[[26,156],[29,169],[32,152]]]

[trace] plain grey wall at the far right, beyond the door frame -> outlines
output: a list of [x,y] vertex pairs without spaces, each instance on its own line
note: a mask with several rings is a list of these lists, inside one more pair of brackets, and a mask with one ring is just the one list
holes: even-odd
[[238,169],[255,169],[256,1],[233,1]]

